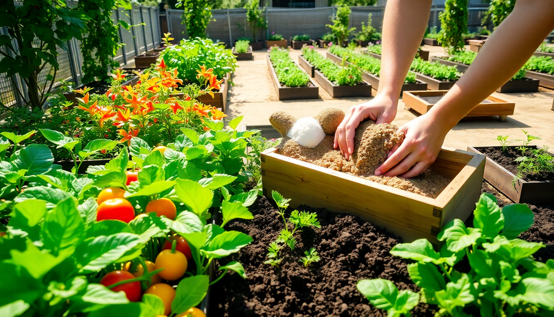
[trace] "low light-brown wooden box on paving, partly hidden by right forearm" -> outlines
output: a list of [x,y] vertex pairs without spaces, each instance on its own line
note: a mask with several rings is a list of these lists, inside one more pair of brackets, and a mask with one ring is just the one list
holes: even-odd
[[[442,98],[448,90],[422,90],[422,91],[404,91],[402,101],[404,109],[414,110],[418,114],[425,114],[429,111],[438,99]],[[439,97],[437,101],[430,102],[425,97]],[[506,121],[506,117],[514,114],[514,103],[489,96],[467,114],[465,117],[476,116],[500,116],[500,121]]]

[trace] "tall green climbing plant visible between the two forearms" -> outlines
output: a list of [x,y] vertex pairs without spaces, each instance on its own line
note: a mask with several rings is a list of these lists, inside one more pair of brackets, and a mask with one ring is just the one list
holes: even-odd
[[437,40],[447,53],[464,50],[468,16],[468,0],[447,0],[444,3],[444,11],[439,13],[441,30]]

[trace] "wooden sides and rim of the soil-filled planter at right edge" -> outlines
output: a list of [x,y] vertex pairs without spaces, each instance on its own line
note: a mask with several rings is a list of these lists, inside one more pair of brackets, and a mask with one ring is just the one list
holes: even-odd
[[[501,149],[500,146],[493,146],[495,149]],[[514,149],[516,146],[510,146]],[[539,146],[530,146],[531,148],[540,148]],[[488,147],[468,147],[468,151],[476,154],[483,154],[481,150]],[[554,153],[548,152],[554,156]],[[549,182],[524,181],[521,178],[512,186],[512,180],[515,175],[500,166],[499,163],[486,158],[485,163],[485,181],[488,181],[497,190],[510,197],[516,203],[531,204],[550,204],[554,203],[554,180]]]

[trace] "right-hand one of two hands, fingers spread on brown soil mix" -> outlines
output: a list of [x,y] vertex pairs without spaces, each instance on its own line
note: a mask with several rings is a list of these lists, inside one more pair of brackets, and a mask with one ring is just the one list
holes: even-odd
[[431,113],[419,116],[399,131],[404,132],[404,141],[395,145],[375,175],[411,178],[423,173],[437,159],[444,137],[450,130],[439,124]]

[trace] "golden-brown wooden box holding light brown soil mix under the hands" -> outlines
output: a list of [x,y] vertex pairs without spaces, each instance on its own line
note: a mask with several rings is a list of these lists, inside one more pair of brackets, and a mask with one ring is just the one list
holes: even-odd
[[479,200],[485,156],[442,149],[431,168],[452,181],[433,199],[280,155],[261,153],[263,193],[278,191],[295,208],[302,204],[353,214],[387,228],[404,242],[437,234],[454,218],[465,220]]

